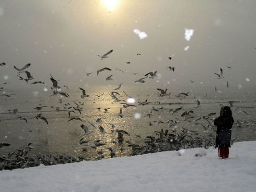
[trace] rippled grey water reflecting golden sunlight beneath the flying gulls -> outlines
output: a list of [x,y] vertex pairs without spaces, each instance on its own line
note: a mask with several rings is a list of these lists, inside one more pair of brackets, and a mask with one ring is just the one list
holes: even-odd
[[[107,147],[113,147],[115,148],[116,156],[131,155],[131,147],[127,147],[127,145],[131,143],[143,144],[144,141],[148,140],[146,136],[156,136],[155,131],[160,131],[161,129],[169,130],[169,133],[172,133],[174,127],[169,127],[167,124],[170,119],[178,121],[176,133],[179,133],[182,127],[197,131],[200,137],[206,137],[209,133],[214,133],[214,129],[204,132],[201,123],[207,126],[208,122],[203,118],[196,122],[194,120],[209,113],[216,113],[216,115],[209,118],[212,125],[212,119],[219,116],[221,106],[230,106],[229,101],[232,101],[231,109],[235,119],[232,127],[232,137],[238,137],[237,141],[256,139],[256,103],[254,93],[230,93],[229,95],[224,95],[218,92],[200,93],[200,91],[190,91],[188,97],[180,100],[175,96],[180,93],[179,91],[159,97],[160,92],[156,89],[134,91],[131,87],[122,87],[117,90],[121,95],[119,99],[126,100],[129,98],[125,96],[123,90],[127,95],[136,99],[134,103],[136,107],[123,108],[123,104],[114,102],[111,98],[109,94],[113,89],[109,87],[88,88],[87,94],[90,96],[83,99],[80,97],[81,91],[79,89],[72,91],[62,90],[67,91],[70,97],[50,96],[52,91],[13,91],[12,93],[15,96],[0,98],[0,142],[11,144],[8,147],[0,148],[0,155],[12,152],[16,148],[24,148],[31,142],[33,150],[30,154],[84,155],[87,160],[93,160],[99,156],[97,152],[101,150],[106,158],[110,157],[110,151]],[[104,94],[100,97],[96,96],[101,93]],[[62,101],[60,102],[59,99]],[[144,106],[139,105],[138,101],[145,101],[146,99],[152,103]],[[201,102],[199,107],[197,106],[197,99]],[[75,102],[77,104],[81,103],[81,114],[75,111],[76,113],[71,113],[71,116],[69,116],[68,108],[71,106],[76,107]],[[172,104],[169,104],[170,102]],[[35,109],[37,106],[45,107],[37,111]],[[156,109],[160,109],[159,112],[152,111],[151,118],[149,118],[147,114],[153,106]],[[170,109],[177,109],[181,106],[182,110],[179,112],[169,113]],[[100,108],[100,110],[97,108]],[[110,109],[105,113],[103,110],[105,108]],[[120,108],[122,108],[123,118],[118,116]],[[15,109],[17,109],[17,112],[13,113],[12,110]],[[182,113],[189,110],[194,112],[191,114],[192,117],[181,117]],[[42,116],[48,119],[49,124],[35,118],[39,113],[42,113]],[[17,119],[18,116],[26,118],[28,123]],[[79,120],[68,122],[72,117],[80,117],[82,122]],[[96,123],[95,121],[98,118],[101,118],[102,122]],[[241,122],[242,126],[239,126],[237,120]],[[89,121],[96,126],[96,129],[90,125]],[[162,121],[164,123],[159,123],[158,125],[154,121]],[[152,126],[148,126],[150,122]],[[114,124],[115,127],[112,128],[110,123]],[[81,124],[87,125],[93,133],[90,135],[84,134],[80,127]],[[99,125],[104,127],[105,134],[100,133]],[[214,126],[212,125],[212,127]],[[124,135],[124,141],[119,143],[117,134],[113,133],[116,129],[124,130],[130,135]],[[88,143],[79,144],[81,138],[84,138]],[[91,147],[96,140],[106,144],[97,148]],[[87,149],[86,152],[83,151],[84,148]]]

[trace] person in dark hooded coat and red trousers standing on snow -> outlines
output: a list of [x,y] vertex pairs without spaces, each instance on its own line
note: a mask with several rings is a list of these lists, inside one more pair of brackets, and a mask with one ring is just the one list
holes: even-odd
[[229,106],[222,106],[220,116],[214,120],[217,126],[216,131],[216,145],[218,147],[219,158],[228,158],[230,141],[231,141],[231,128],[234,123],[232,111]]

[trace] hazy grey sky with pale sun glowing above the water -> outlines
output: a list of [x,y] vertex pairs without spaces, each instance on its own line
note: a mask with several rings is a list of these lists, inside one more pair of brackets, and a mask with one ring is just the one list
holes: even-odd
[[[228,81],[233,89],[256,85],[256,1],[120,0],[112,10],[111,0],[103,2],[0,1],[0,63],[6,62],[0,66],[0,83],[28,87],[13,66],[31,63],[28,71],[48,87],[50,74],[62,86],[116,86],[135,84],[156,70],[159,78],[146,80],[147,86],[182,87],[189,80],[194,86],[219,87]],[[140,39],[134,29],[147,37]],[[185,29],[194,30],[189,41]],[[97,56],[111,49],[109,58]],[[168,66],[175,71],[168,71]],[[113,71],[97,77],[103,67]],[[220,68],[223,79],[214,74]],[[93,73],[87,77],[83,70]],[[105,81],[111,74],[113,81]]]

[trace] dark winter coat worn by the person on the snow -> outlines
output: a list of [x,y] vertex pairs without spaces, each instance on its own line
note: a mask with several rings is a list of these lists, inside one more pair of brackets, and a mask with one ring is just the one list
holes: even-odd
[[214,124],[217,126],[215,147],[230,147],[233,122],[234,119],[232,116],[223,115],[220,115],[214,120]]

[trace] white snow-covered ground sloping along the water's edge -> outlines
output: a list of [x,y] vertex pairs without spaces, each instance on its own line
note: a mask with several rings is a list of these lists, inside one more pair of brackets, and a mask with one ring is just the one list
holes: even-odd
[[193,148],[3,170],[0,191],[256,191],[256,141],[234,143],[229,152],[229,159]]

